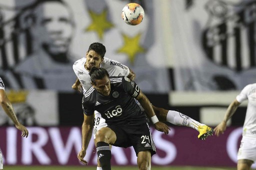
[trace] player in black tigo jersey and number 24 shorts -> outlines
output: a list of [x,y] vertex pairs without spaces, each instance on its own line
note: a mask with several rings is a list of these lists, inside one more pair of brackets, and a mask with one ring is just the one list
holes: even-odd
[[[90,72],[90,78],[93,87],[84,94],[82,107],[88,124],[93,121],[94,110],[106,120],[107,127],[96,133],[96,150],[102,170],[111,169],[109,144],[123,148],[132,146],[139,169],[150,169],[155,146],[148,119],[133,98],[145,109],[156,130],[168,134],[169,128],[158,121],[152,105],[134,81],[124,76],[109,77],[104,68],[95,67]],[[88,144],[89,138],[85,141]]]

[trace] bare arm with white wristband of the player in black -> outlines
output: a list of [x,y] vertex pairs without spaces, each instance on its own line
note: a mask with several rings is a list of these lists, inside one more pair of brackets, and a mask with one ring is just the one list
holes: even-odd
[[155,116],[155,113],[153,111],[152,105],[148,98],[140,91],[139,95],[135,97],[136,100],[141,104],[141,106],[144,108],[147,117],[149,117],[154,124],[154,127],[157,131],[163,132],[164,134],[169,133],[169,128],[167,125],[165,125],[162,122],[159,122],[157,117]]

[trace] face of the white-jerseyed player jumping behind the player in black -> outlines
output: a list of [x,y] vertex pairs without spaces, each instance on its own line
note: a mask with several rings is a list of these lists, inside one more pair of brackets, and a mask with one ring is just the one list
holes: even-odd
[[102,60],[103,58],[98,53],[96,53],[94,50],[89,50],[86,53],[86,62],[85,62],[86,70],[90,70],[92,67],[99,68]]

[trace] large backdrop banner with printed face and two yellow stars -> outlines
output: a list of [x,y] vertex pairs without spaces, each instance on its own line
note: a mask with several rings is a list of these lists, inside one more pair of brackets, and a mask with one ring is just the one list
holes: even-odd
[[121,18],[130,0],[39,1],[0,0],[0,77],[6,87],[70,92],[74,61],[101,42],[106,57],[135,71],[144,92],[168,92],[158,0],[138,0],[145,16],[136,26]]

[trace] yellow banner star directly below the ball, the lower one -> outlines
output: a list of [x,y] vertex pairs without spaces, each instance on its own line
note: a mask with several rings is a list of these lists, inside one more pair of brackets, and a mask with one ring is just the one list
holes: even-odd
[[133,64],[135,56],[139,52],[144,52],[145,49],[139,45],[141,34],[137,34],[134,37],[128,37],[122,34],[124,44],[117,50],[118,53],[125,53],[128,55],[130,62]]

